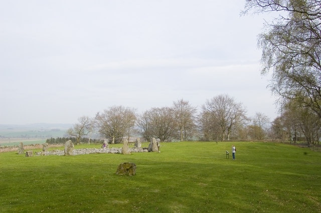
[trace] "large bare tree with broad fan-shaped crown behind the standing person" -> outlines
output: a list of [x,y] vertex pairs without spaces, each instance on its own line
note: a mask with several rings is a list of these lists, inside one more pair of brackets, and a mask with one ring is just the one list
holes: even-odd
[[243,105],[227,94],[207,100],[202,108],[204,112],[209,112],[207,114],[220,127],[222,141],[229,140],[233,128],[246,119],[246,110]]

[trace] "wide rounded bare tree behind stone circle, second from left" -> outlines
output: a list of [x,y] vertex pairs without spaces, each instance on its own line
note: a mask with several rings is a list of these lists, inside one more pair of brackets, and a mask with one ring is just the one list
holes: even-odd
[[120,142],[125,135],[130,134],[136,115],[134,109],[112,106],[97,115],[98,131],[102,136],[111,139],[111,143]]

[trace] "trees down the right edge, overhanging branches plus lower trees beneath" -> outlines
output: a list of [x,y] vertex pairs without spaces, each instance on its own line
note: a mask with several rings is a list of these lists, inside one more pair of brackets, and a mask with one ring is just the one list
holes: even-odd
[[[270,137],[280,141],[304,138],[309,146],[321,138],[321,7],[320,0],[246,0],[243,14],[275,15],[258,36],[261,74],[279,96],[280,116]],[[255,127],[255,126],[254,126]]]

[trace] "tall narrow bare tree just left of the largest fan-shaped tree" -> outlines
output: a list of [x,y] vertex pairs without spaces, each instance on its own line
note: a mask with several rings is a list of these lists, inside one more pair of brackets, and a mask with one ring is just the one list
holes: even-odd
[[196,107],[192,106],[189,101],[180,99],[174,101],[174,114],[180,130],[181,141],[184,141],[188,135],[192,136],[195,130]]

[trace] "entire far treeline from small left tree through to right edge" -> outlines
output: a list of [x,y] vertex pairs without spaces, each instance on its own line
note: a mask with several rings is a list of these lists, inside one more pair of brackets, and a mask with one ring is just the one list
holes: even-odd
[[284,105],[281,115],[272,122],[260,112],[254,117],[246,116],[243,104],[227,94],[207,100],[199,111],[183,99],[174,101],[172,106],[154,107],[142,113],[118,105],[98,112],[95,117],[80,117],[79,122],[68,129],[68,134],[76,144],[88,142],[86,136],[91,138],[98,133],[111,144],[130,141],[135,135],[142,141],[155,137],[161,141],[273,140],[295,143],[304,139],[309,146],[319,145],[319,116],[296,103]]

